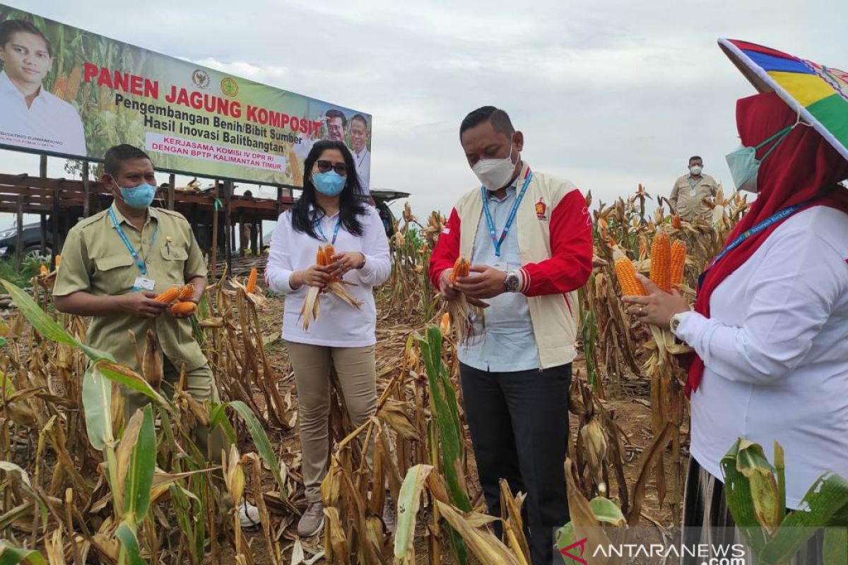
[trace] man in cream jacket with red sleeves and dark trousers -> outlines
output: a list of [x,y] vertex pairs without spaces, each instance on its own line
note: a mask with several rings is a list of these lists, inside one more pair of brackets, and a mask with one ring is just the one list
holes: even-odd
[[[577,289],[592,270],[592,223],[577,187],[530,169],[524,136],[499,108],[460,125],[468,164],[483,186],[460,198],[430,259],[432,285],[464,294],[473,330],[460,344],[460,381],[488,511],[500,512],[499,479],[527,493],[533,563],[553,558],[568,521],[563,462],[568,388],[577,353]],[[471,274],[450,285],[459,257]]]

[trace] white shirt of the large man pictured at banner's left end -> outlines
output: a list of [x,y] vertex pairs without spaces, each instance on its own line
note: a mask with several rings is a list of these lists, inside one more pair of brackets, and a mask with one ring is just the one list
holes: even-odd
[[0,144],[86,157],[80,114],[42,86],[29,108],[24,94],[0,72]]

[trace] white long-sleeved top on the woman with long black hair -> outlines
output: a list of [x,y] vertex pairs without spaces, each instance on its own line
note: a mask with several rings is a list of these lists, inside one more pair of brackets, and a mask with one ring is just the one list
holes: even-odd
[[[365,267],[354,269],[344,275],[345,290],[360,302],[359,309],[343,302],[332,293],[321,295],[321,313],[318,319],[304,330],[303,320],[298,321],[300,308],[309,286],[293,290],[289,279],[294,271],[308,269],[315,264],[318,247],[326,241],[293,230],[292,213],[280,214],[274,234],[271,236],[271,252],[265,267],[265,283],[275,292],[286,295],[283,309],[282,339],[316,346],[365,347],[377,342],[377,307],[373,288],[382,285],[392,271],[388,252],[388,239],[377,210],[365,207],[360,216],[362,235],[351,235],[340,226],[335,243],[336,252],[358,251],[365,255]],[[332,240],[338,213],[321,220],[321,231]],[[316,230],[319,237],[321,231]]]

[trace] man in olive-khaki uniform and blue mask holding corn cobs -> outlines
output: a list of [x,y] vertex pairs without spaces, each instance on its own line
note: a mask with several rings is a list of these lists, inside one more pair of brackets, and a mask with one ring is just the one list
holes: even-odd
[[[203,296],[206,266],[191,226],[180,213],[150,208],[156,191],[153,163],[137,147],[123,144],[109,149],[102,180],[114,202],[68,233],[62,269],[53,287],[56,308],[91,316],[88,345],[111,353],[118,363],[139,374],[142,368],[129,332],[142,349],[148,330],[153,330],[164,353],[165,382],[175,384],[185,367],[189,394],[201,403],[217,402],[215,377],[194,341],[187,316],[172,314],[168,305],[153,300],[170,287],[186,283],[194,285],[192,302]],[[124,393],[126,418],[148,402],[141,393]],[[210,459],[218,461],[221,449],[226,448],[224,436],[209,437],[203,425],[198,425],[196,435]],[[258,523],[255,507],[243,504],[239,510],[243,523]],[[246,521],[246,512],[255,519]]]

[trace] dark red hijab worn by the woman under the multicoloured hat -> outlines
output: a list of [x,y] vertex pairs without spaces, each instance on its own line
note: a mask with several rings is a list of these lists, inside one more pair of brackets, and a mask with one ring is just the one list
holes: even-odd
[[[787,125],[794,124],[797,117],[795,110],[789,108],[774,92],[757,94],[736,102],[736,126],[742,144],[746,147],[762,143]],[[772,144],[768,144],[757,150],[756,157],[762,158],[771,147]],[[848,213],[848,190],[836,184],[845,178],[848,178],[848,161],[812,127],[798,125],[762,162],[756,180],[759,190],[756,201],[736,225],[728,242],[734,241],[745,230],[779,210],[812,199],[804,208],[828,206]],[[828,191],[827,196],[817,197],[827,189],[833,190]],[[729,274],[739,269],[739,265],[745,263],[781,223],[777,222],[751,235],[710,269],[698,290],[695,312],[710,317],[712,291]],[[689,367],[687,396],[698,389],[703,376],[704,362],[695,355]]]

